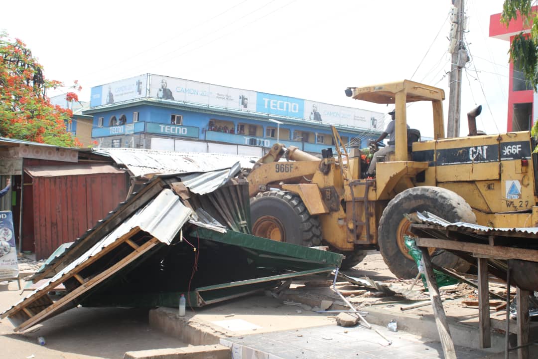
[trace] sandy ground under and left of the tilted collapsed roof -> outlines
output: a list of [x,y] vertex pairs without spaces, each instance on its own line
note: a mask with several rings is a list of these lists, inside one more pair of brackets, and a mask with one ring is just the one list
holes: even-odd
[[[19,258],[20,272],[35,271],[42,262]],[[0,312],[22,297],[16,282],[0,285]],[[6,359],[121,359],[126,351],[178,348],[187,344],[151,329],[148,310],[141,308],[74,308],[24,333],[13,332],[9,319],[0,320],[0,357]],[[45,346],[38,337],[45,338]]]

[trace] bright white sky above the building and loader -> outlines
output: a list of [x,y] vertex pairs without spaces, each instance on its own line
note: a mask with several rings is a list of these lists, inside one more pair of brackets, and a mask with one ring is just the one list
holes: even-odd
[[[506,131],[508,41],[489,37],[502,0],[467,0],[461,134],[482,104],[478,129]],[[450,0],[67,1],[2,5],[0,28],[22,39],[48,79],[90,88],[153,73],[319,102],[388,112],[344,89],[412,79],[445,90],[447,121]],[[416,73],[415,73],[416,71]],[[49,96],[58,94],[49,93]],[[431,136],[425,109],[408,122]],[[427,108],[428,113],[430,107]],[[422,121],[421,121],[422,118]],[[427,117],[429,118],[429,117]]]

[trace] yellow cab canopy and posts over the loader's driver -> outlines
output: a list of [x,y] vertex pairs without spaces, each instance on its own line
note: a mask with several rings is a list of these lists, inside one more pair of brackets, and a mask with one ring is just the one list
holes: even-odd
[[434,139],[444,138],[443,100],[444,91],[433,86],[404,80],[399,82],[383,83],[366,87],[348,87],[345,90],[348,97],[356,100],[379,104],[393,104],[396,111],[396,144],[394,156],[396,161],[407,161],[410,142],[418,137],[420,131],[407,132],[407,103],[417,101],[431,102],[433,113]]

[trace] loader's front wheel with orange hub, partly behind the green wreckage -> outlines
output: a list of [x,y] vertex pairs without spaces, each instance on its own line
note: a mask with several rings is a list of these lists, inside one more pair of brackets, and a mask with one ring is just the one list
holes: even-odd
[[308,213],[301,198],[269,191],[250,199],[252,234],[270,240],[313,247],[321,244],[320,221]]

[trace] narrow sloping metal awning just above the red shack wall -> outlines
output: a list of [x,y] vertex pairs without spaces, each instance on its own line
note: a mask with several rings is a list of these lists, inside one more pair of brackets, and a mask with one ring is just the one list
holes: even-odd
[[125,173],[125,171],[105,164],[76,164],[61,166],[26,166],[24,172],[32,177],[60,177],[98,173]]

